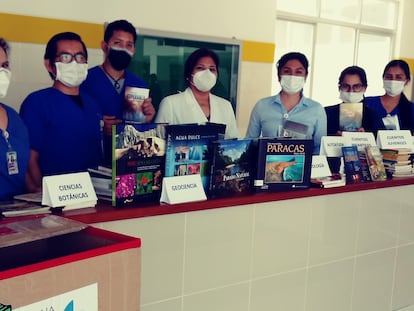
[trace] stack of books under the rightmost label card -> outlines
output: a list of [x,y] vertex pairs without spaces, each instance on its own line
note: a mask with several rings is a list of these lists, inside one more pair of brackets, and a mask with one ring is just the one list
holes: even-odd
[[410,149],[381,149],[384,167],[388,176],[412,177],[413,154]]

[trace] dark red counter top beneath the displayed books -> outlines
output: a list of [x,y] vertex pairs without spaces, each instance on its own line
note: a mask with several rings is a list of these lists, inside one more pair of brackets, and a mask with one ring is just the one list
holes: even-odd
[[174,205],[160,205],[154,203],[139,204],[128,207],[114,208],[110,202],[99,202],[94,208],[83,208],[63,212],[63,216],[83,223],[93,224],[123,220],[159,216],[164,214],[192,212],[213,208],[222,208],[237,205],[263,203],[289,199],[306,198],[320,195],[331,195],[344,192],[371,190],[378,188],[397,187],[414,184],[414,178],[395,178],[381,182],[368,182],[354,185],[346,185],[336,188],[310,188],[304,190],[291,190],[283,192],[257,193],[252,195],[209,199],[201,202],[190,202]]

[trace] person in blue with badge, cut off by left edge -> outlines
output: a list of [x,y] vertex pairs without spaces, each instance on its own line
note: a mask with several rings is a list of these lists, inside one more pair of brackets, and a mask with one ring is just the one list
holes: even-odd
[[[0,98],[7,94],[11,70],[9,46],[0,38]],[[0,103],[0,201],[26,191],[25,178],[30,147],[26,126],[19,114]]]

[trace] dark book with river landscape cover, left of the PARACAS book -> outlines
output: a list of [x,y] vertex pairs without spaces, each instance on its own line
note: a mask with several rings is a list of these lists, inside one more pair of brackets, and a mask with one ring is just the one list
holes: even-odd
[[212,142],[210,196],[250,194],[257,161],[257,140],[234,139]]

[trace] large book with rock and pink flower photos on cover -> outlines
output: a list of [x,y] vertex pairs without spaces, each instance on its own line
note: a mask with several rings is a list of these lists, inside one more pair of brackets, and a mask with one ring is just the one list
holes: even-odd
[[163,123],[112,126],[112,205],[159,200],[165,169]]

